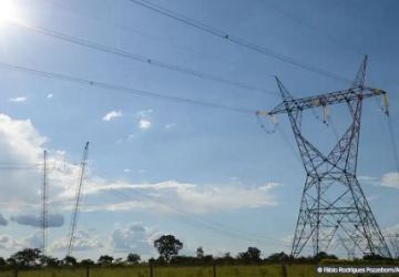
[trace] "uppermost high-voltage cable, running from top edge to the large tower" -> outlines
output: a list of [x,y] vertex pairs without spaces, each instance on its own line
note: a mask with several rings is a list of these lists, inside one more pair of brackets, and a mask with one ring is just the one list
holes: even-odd
[[193,28],[196,28],[198,30],[202,30],[204,32],[213,34],[215,37],[225,39],[226,41],[231,41],[231,42],[233,42],[235,44],[238,44],[241,47],[250,49],[250,50],[256,51],[258,53],[262,53],[262,54],[265,54],[265,55],[268,55],[268,57],[273,57],[273,58],[275,58],[275,59],[277,59],[277,60],[279,60],[282,62],[293,64],[293,65],[295,65],[297,68],[310,71],[310,72],[314,72],[314,73],[317,73],[319,75],[324,75],[324,76],[327,76],[327,78],[330,78],[330,79],[335,79],[335,80],[344,82],[344,83],[351,83],[351,81],[346,79],[346,78],[336,75],[336,74],[334,74],[331,72],[328,72],[326,70],[316,68],[316,66],[314,66],[311,64],[307,64],[307,63],[297,61],[291,57],[277,53],[277,52],[275,52],[275,51],[273,51],[273,50],[270,50],[268,48],[265,48],[265,47],[255,44],[253,42],[246,41],[246,40],[244,40],[242,38],[232,35],[232,34],[229,34],[229,33],[227,33],[225,31],[222,31],[222,30],[216,29],[214,27],[204,24],[204,23],[198,22],[196,20],[190,19],[190,18],[187,18],[185,16],[182,16],[180,13],[176,13],[176,12],[172,11],[172,10],[165,9],[165,8],[161,7],[161,6],[152,3],[150,1],[146,1],[146,0],[129,0],[129,1],[131,1],[133,3],[136,3],[136,4],[141,6],[141,7],[144,7],[146,9],[150,9],[152,11],[155,11],[157,13],[161,13],[163,16],[166,16],[168,18],[172,18],[174,20],[177,20],[177,21],[180,21],[180,22],[182,22],[184,24],[191,25]]

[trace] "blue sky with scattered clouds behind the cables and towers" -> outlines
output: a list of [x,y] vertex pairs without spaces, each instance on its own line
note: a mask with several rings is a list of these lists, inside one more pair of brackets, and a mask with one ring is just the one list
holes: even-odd
[[[2,3],[3,1],[1,1]],[[348,88],[262,55],[127,0],[13,0],[24,24],[275,92],[262,93],[83,48],[9,23],[0,25],[0,62],[92,81],[250,110],[279,103],[273,75],[296,96]],[[397,1],[153,1],[277,53],[352,79],[369,55],[367,84],[389,93],[399,117]],[[284,115],[265,134],[250,114],[82,86],[3,69],[0,162],[40,163],[49,176],[49,253],[65,255],[78,163],[90,142],[74,256],[155,255],[152,239],[173,233],[205,253],[286,250],[305,181]],[[364,107],[358,175],[382,229],[398,227],[399,176],[381,100]],[[377,104],[376,104],[377,103]],[[317,115],[321,111],[316,111]],[[309,113],[306,133],[327,151],[331,127]],[[342,131],[347,114],[331,107]],[[266,121],[266,124],[269,124]],[[285,134],[285,135],[282,135]],[[286,140],[287,138],[287,140]],[[0,255],[39,246],[40,171],[1,170]],[[21,215],[30,220],[21,220]],[[61,220],[61,219],[62,220]],[[122,243],[123,242],[123,243]]]

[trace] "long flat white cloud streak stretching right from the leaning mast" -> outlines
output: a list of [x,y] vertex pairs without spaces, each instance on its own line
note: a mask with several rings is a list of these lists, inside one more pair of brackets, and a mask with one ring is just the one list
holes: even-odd
[[[109,203],[99,206],[85,205],[86,211],[127,211],[133,208],[152,208],[157,212],[182,211],[195,214],[213,213],[219,211],[234,211],[241,208],[258,208],[276,205],[273,189],[276,183],[262,186],[246,187],[234,185],[197,185],[166,181],[153,184],[109,183],[98,181],[89,183],[88,194],[105,194],[109,191],[121,191],[125,195],[140,194],[140,198],[132,196],[126,202]],[[132,194],[130,194],[132,193]],[[239,195],[239,197],[236,197]]]

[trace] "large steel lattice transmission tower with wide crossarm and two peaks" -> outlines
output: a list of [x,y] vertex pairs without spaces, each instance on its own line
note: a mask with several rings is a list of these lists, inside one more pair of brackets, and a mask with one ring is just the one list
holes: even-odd
[[[332,238],[340,235],[350,238],[364,255],[391,257],[356,177],[362,101],[378,95],[386,99],[385,91],[365,86],[366,65],[367,57],[351,88],[301,99],[294,99],[276,78],[283,102],[264,113],[288,115],[306,171],[291,247],[294,256],[298,256],[308,244],[313,245],[315,255],[327,252]],[[303,135],[301,115],[305,110],[332,104],[347,105],[350,124],[332,150],[324,154]]]

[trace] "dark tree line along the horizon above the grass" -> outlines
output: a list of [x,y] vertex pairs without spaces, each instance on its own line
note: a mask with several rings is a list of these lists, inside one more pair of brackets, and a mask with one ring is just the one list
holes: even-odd
[[[88,267],[88,266],[133,266],[141,264],[153,265],[250,265],[259,263],[318,263],[320,260],[338,260],[335,255],[320,252],[316,256],[296,257],[287,255],[284,252],[274,253],[266,258],[262,258],[262,252],[257,247],[248,247],[245,252],[232,256],[231,253],[225,253],[222,257],[214,257],[206,255],[203,247],[196,249],[195,256],[180,256],[178,253],[183,249],[183,243],[173,235],[163,235],[154,240],[154,247],[160,256],[151,258],[147,261],[141,259],[141,256],[135,253],[130,253],[125,258],[114,258],[110,255],[102,255],[96,261],[92,259],[78,260],[72,256],[66,256],[63,259],[43,255],[38,248],[24,248],[9,258],[0,257],[0,268],[38,268],[38,267]],[[366,255],[362,260],[389,260],[377,255]]]

